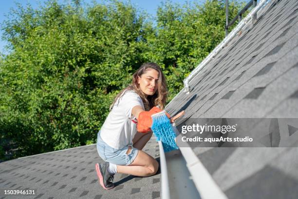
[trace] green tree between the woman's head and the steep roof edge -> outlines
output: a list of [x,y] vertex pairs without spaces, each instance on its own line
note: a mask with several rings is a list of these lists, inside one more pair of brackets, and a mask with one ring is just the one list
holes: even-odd
[[[242,6],[242,2],[230,2],[229,20]],[[193,6],[167,1],[158,8],[156,31],[148,37],[149,50],[144,56],[166,69],[169,100],[183,88],[187,75],[223,40],[224,26],[224,0],[206,0]]]

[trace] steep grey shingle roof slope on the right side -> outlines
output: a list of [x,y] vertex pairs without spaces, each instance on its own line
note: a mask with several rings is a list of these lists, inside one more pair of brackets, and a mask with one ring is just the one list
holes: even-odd
[[[207,118],[298,118],[297,16],[297,0],[269,1],[168,104],[170,115],[186,112],[178,129]],[[282,125],[298,134],[298,124]],[[192,150],[229,199],[298,197],[297,147]]]

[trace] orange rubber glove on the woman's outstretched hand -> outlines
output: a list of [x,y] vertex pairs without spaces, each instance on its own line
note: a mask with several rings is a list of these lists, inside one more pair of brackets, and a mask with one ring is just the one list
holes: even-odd
[[[141,133],[148,133],[151,129],[150,127],[152,126],[152,118],[151,116],[155,113],[159,113],[162,110],[154,106],[151,108],[149,111],[142,111],[139,114],[138,118],[138,124],[137,124],[137,131]],[[170,118],[170,115],[166,112],[166,115],[168,118]]]

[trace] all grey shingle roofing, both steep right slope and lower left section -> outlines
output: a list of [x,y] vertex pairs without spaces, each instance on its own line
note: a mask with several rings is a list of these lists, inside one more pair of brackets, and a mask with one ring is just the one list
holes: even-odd
[[[166,110],[186,110],[178,124],[204,118],[298,118],[298,2],[272,0],[190,82]],[[289,127],[296,136],[298,126]],[[297,198],[298,148],[191,148],[223,193],[238,198]],[[144,149],[158,158],[152,138]],[[115,175],[104,191],[94,169],[96,145],[0,163],[4,189],[35,189],[35,198],[159,198],[160,175]],[[4,196],[2,198],[24,198]],[[32,198],[27,196],[27,198]]]

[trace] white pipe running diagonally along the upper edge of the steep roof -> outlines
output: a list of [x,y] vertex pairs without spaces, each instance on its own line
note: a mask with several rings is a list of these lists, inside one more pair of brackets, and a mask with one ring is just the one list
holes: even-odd
[[212,58],[214,58],[223,47],[232,40],[235,35],[242,29],[242,27],[253,18],[253,16],[259,11],[259,9],[265,4],[267,0],[261,0],[259,4],[243,19],[241,22],[223,39],[223,41],[214,48],[214,50],[188,75],[188,77],[183,80],[184,86],[186,88],[186,94],[189,94],[189,82],[209,63]]

